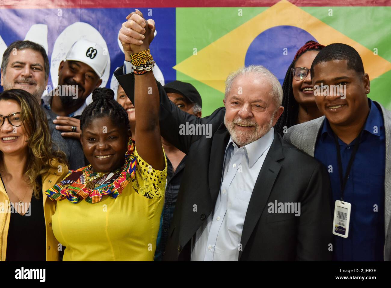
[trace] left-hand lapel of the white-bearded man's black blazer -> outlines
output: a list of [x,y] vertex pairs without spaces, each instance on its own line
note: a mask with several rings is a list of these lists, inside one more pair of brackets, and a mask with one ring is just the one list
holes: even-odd
[[220,190],[221,175],[224,165],[224,154],[229,140],[230,133],[228,133],[225,125],[221,124],[213,136],[209,160],[209,187],[213,207]]

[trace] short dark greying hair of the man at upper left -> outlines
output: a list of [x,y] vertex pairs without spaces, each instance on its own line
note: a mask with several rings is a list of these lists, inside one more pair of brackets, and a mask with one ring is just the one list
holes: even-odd
[[3,61],[1,63],[1,68],[2,68],[3,74],[5,74],[5,70],[8,66],[9,55],[11,54],[11,52],[13,52],[14,49],[16,49],[16,51],[23,50],[23,49],[31,49],[31,50],[34,50],[36,52],[41,53],[42,58],[43,58],[43,63],[45,66],[44,67],[45,80],[48,79],[48,77],[49,77],[49,58],[46,54],[45,48],[43,48],[42,45],[39,45],[38,43],[28,41],[28,40],[15,41],[15,42],[11,43],[11,45],[9,45],[7,49],[5,49],[4,54],[3,54]]

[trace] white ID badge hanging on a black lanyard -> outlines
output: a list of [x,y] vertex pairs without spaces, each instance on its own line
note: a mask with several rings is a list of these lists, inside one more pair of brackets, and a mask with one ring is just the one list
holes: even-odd
[[348,202],[341,202],[341,200],[335,201],[334,221],[333,221],[334,235],[341,236],[343,238],[348,238],[351,209],[352,209],[352,204]]

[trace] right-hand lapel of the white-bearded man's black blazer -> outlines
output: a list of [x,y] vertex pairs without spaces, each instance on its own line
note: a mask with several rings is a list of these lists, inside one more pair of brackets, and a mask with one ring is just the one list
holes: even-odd
[[[264,211],[267,199],[269,198],[274,181],[277,178],[281,169],[281,164],[277,161],[284,158],[282,153],[281,137],[278,133],[274,133],[274,140],[266,155],[265,161],[262,164],[261,171],[256,179],[253,193],[251,194],[250,202],[248,204],[246,217],[244,219],[242,238],[242,250],[246,247],[248,239],[253,232],[256,223]],[[239,252],[239,259],[242,256],[242,250]]]

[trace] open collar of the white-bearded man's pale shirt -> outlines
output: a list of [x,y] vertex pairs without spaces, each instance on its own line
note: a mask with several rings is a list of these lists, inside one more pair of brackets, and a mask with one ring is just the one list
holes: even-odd
[[234,151],[242,149],[242,151],[248,155],[248,166],[249,168],[251,168],[255,164],[255,162],[259,159],[259,157],[261,157],[262,154],[266,151],[266,149],[271,146],[273,140],[274,140],[274,128],[272,127],[269,130],[269,132],[267,132],[260,139],[255,140],[254,142],[251,142],[246,146],[240,148],[237,148],[237,145],[233,142],[232,137],[230,137],[226,150],[230,146],[233,146],[235,148]]

